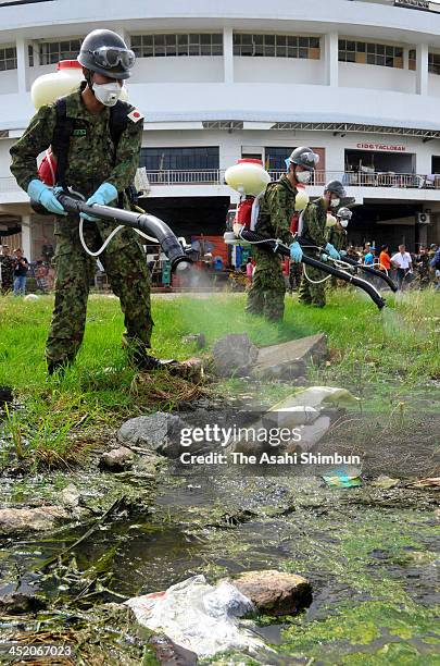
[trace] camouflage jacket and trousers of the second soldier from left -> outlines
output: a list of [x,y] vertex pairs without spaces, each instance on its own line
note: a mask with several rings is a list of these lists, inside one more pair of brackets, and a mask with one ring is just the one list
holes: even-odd
[[[290,221],[294,214],[298,189],[288,177],[269,183],[260,202],[255,232],[266,238],[276,238],[290,245],[293,235]],[[257,248],[259,246],[254,246]],[[279,321],[285,311],[286,282],[281,270],[281,256],[272,249],[255,249],[255,271],[248,292],[247,312],[263,314],[269,321]]]

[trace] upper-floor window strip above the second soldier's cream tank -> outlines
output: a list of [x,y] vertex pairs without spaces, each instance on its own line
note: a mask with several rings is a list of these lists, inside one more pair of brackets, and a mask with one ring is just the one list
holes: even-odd
[[319,60],[320,38],[299,35],[234,33],[234,55]]

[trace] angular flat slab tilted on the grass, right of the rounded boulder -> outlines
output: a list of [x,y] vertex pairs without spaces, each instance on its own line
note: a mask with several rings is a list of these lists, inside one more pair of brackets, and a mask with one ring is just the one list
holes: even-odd
[[253,363],[252,377],[292,380],[304,375],[312,362],[318,365],[327,355],[327,337],[323,333],[262,347]]

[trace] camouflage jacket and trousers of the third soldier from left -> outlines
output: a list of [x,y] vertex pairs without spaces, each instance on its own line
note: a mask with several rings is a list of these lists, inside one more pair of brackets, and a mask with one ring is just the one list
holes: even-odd
[[[302,236],[312,240],[314,245],[325,247],[328,243],[326,238],[327,206],[324,199],[318,199],[314,203],[309,203],[302,217]],[[304,247],[304,252],[313,259],[319,259],[319,252]],[[304,267],[311,280],[317,281],[326,278],[326,273],[311,266]],[[300,303],[323,307],[326,305],[325,282],[314,284],[309,282],[305,273],[300,284]]]

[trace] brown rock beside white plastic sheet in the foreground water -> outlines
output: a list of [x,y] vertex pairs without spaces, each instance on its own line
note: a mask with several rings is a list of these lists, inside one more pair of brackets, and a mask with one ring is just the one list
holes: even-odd
[[312,603],[312,585],[296,574],[275,569],[244,571],[229,582],[266,615],[292,615]]

